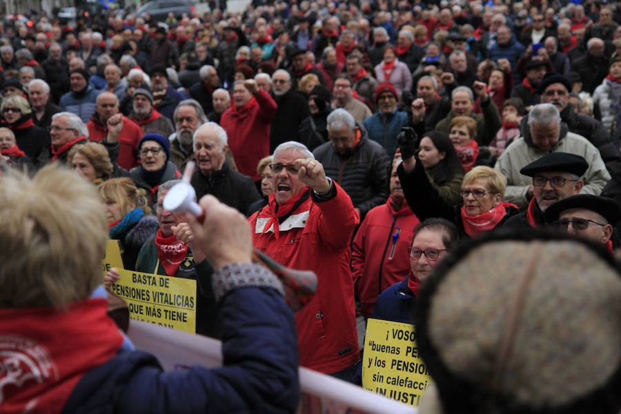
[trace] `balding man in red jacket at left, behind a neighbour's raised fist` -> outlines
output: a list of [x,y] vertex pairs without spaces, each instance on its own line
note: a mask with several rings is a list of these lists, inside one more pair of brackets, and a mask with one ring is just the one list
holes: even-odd
[[[91,141],[101,142],[108,137],[108,126],[106,123],[112,115],[119,113],[119,100],[115,94],[103,92],[97,97],[95,113],[86,123],[88,128],[88,138]],[[142,128],[125,116],[123,117],[123,130],[119,134],[119,158],[117,164],[131,170],[138,166],[138,141],[142,138]]]

